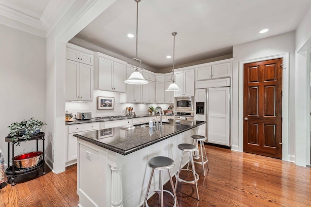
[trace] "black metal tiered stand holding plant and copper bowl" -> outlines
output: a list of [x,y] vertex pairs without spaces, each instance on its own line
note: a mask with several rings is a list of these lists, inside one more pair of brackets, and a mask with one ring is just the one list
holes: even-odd
[[[42,175],[45,174],[45,171],[44,171],[44,132],[39,132],[38,134],[34,135],[34,136],[31,136],[31,139],[29,141],[33,141],[35,140],[36,143],[37,143],[37,151],[38,151],[38,140],[42,140],[42,143],[43,143],[43,159],[37,164],[35,165],[34,167],[30,167],[30,168],[17,168],[14,166],[14,144],[12,144],[12,166],[10,166],[10,143],[12,143],[12,138],[10,136],[7,136],[5,137],[5,142],[8,143],[8,168],[6,168],[5,170],[5,174],[7,175],[7,183],[10,182],[11,178],[12,178],[12,183],[11,185],[14,186],[16,185],[15,183],[15,178],[19,175],[24,175],[24,174],[28,174],[28,173],[32,173],[32,172],[35,172],[35,171],[38,171],[40,170],[41,168],[43,168],[43,173]],[[20,139],[20,141],[25,141],[24,139]]]

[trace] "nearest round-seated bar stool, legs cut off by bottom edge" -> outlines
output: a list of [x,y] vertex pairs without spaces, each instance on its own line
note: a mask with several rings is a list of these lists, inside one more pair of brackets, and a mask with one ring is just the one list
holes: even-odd
[[[160,171],[160,174],[159,174],[159,188],[160,189],[155,191],[155,192],[160,193],[159,203],[161,202],[161,207],[164,207],[163,192],[168,192],[169,194],[171,194],[172,197],[174,198],[174,206],[173,207],[176,207],[176,206],[178,207],[176,191],[174,188],[173,179],[172,179],[172,175],[170,172],[170,169],[175,166],[174,160],[171,158],[168,158],[168,157],[158,156],[158,157],[154,157],[152,159],[149,159],[148,166],[152,168],[152,172],[151,172],[151,176],[150,176],[150,180],[149,180],[149,184],[148,184],[148,188],[147,188],[146,198],[144,200],[144,204],[142,205],[142,207],[145,207],[145,206],[149,207],[148,203],[147,203],[147,199],[148,199],[148,193],[149,193],[150,185],[151,185],[151,181],[152,181],[152,176],[154,175],[155,170]],[[171,186],[173,188],[174,194],[170,191],[163,190],[163,171],[164,170],[167,170],[169,172]]]

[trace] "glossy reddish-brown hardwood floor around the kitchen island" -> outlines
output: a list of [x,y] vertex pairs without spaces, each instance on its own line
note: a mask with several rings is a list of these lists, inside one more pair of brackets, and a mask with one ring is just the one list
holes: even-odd
[[[214,146],[206,149],[209,164],[206,177],[201,165],[195,164],[200,175],[200,201],[196,199],[194,185],[179,183],[180,207],[311,206],[311,168]],[[76,207],[79,203],[76,173],[77,167],[73,165],[57,175],[48,172],[16,186],[7,185],[0,190],[0,207]],[[164,189],[171,191],[170,184],[165,184]],[[165,206],[173,206],[173,199],[164,197]],[[148,203],[157,206],[157,195]]]

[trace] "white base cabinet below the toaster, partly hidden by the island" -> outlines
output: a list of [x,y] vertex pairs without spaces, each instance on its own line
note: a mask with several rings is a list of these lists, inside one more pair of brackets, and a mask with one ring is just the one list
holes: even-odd
[[98,130],[98,129],[99,129],[99,122],[68,125],[68,142],[67,142],[67,159],[66,159],[67,162],[69,162],[68,165],[76,163],[75,159],[77,159],[78,142],[77,138],[74,137],[73,135],[78,132]]

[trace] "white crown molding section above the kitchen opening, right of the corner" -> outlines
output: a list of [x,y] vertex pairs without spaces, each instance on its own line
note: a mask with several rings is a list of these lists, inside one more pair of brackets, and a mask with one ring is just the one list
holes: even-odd
[[40,22],[46,31],[46,36],[49,36],[75,1],[76,0],[49,0],[40,17]]

